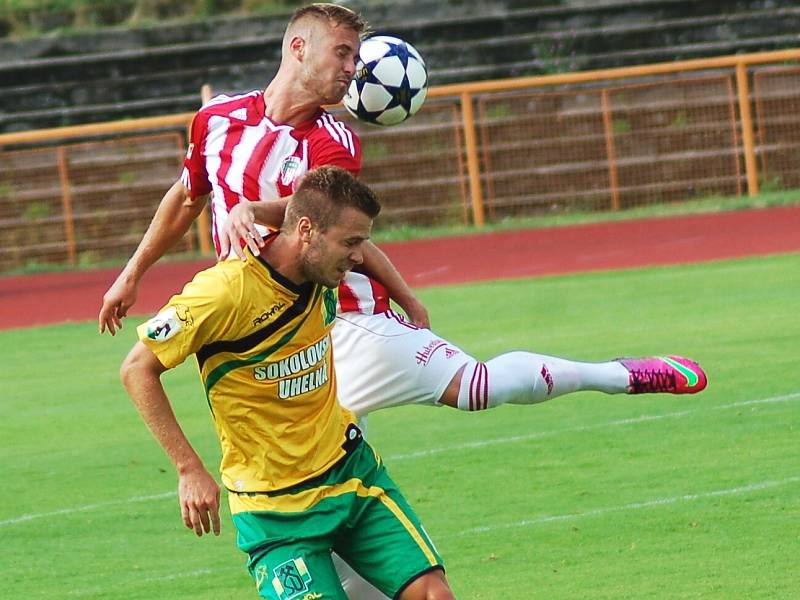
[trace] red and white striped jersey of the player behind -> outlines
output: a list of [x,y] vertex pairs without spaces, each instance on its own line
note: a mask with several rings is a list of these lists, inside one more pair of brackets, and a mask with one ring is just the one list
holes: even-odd
[[[264,92],[254,90],[217,96],[197,112],[181,181],[191,198],[211,194],[212,235],[219,253],[219,233],[233,206],[289,196],[305,173],[322,165],[358,175],[358,136],[322,109],[298,126],[275,123],[266,116]],[[357,273],[347,275],[339,298],[343,312],[389,309],[386,288]]]

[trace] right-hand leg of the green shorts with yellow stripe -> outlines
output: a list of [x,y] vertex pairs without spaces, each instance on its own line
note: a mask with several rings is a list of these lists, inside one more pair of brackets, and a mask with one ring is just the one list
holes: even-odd
[[359,494],[356,516],[337,536],[335,550],[389,597],[434,569],[442,558],[425,529],[382,466]]

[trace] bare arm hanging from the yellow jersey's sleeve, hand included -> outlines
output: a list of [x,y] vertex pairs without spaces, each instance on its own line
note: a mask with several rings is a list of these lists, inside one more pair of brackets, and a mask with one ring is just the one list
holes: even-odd
[[219,535],[220,489],[189,444],[161,384],[166,368],[142,342],[137,342],[120,369],[120,377],[145,424],[178,472],[178,498],[183,523],[197,536]]

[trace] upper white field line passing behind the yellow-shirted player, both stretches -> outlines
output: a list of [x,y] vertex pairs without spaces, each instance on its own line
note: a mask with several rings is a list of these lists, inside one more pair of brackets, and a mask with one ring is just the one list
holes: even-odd
[[[633,417],[630,419],[619,419],[616,421],[606,421],[604,423],[597,423],[595,425],[582,425],[580,427],[568,427],[564,429],[554,429],[551,431],[540,431],[529,433],[525,435],[517,435],[512,437],[506,438],[495,438],[490,440],[482,440],[480,442],[469,442],[465,444],[455,444],[452,446],[442,446],[439,448],[431,448],[429,450],[421,450],[419,452],[411,452],[408,454],[395,454],[391,456],[387,456],[386,458],[390,461],[398,461],[398,460],[409,460],[414,458],[423,458],[427,456],[433,456],[436,454],[442,454],[445,452],[453,452],[457,450],[467,450],[472,448],[483,448],[486,446],[495,446],[498,444],[510,444],[514,442],[521,442],[533,439],[539,439],[544,437],[552,437],[555,435],[560,435],[562,433],[576,433],[582,431],[591,431],[595,429],[605,429],[609,427],[620,427],[623,425],[633,425],[636,423],[644,423],[649,421],[659,421],[661,419],[674,419],[679,417],[685,417],[687,415],[705,412],[710,410],[725,410],[728,408],[739,408],[743,406],[753,406],[757,404],[772,404],[776,402],[792,402],[795,400],[800,400],[800,392],[795,392],[792,394],[785,394],[782,396],[773,396],[771,398],[762,398],[759,400],[744,400],[741,402],[733,402],[731,404],[723,404],[720,406],[713,406],[710,408],[698,408],[694,410],[682,410],[672,413],[665,413],[661,415],[642,415],[640,417]],[[13,517],[11,519],[5,519],[0,521],[0,527],[6,527],[9,525],[17,525],[19,523],[25,523],[27,521],[33,521],[36,519],[44,519],[48,517],[57,517],[61,515],[70,515],[74,513],[80,512],[88,512],[92,510],[107,508],[109,506],[119,506],[121,504],[133,504],[136,502],[147,502],[151,500],[162,500],[164,498],[169,498],[171,496],[175,496],[176,492],[163,492],[161,494],[152,494],[149,496],[132,496],[130,498],[125,498],[121,500],[109,500],[107,502],[98,502],[96,504],[87,504],[85,506],[75,506],[72,508],[62,508],[60,510],[54,510],[50,512],[42,512],[42,513],[30,513],[27,515],[20,515],[18,517]]]

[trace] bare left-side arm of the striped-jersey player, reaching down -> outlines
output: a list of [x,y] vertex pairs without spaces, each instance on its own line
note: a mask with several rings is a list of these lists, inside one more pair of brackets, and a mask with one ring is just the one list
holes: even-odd
[[123,317],[136,302],[142,276],[189,231],[204,206],[204,198],[187,200],[186,188],[180,181],[164,194],[142,241],[103,296],[97,318],[100,333],[108,329],[114,335],[117,329],[122,329]]

